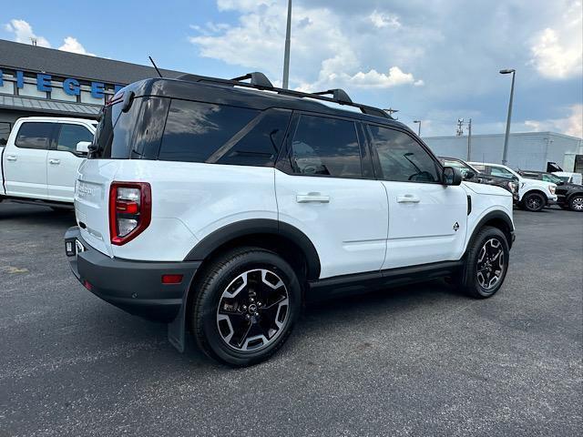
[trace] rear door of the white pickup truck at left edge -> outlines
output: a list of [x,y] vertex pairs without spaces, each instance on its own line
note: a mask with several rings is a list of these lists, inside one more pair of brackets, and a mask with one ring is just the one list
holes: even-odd
[[47,198],[46,157],[55,127],[55,123],[41,121],[26,121],[17,127],[15,142],[6,146],[3,159],[8,196]]

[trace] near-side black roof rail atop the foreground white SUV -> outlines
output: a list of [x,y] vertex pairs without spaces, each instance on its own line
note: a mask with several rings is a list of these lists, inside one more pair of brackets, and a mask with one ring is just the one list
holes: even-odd
[[[353,100],[346,94],[343,89],[335,88],[329,89],[327,91],[320,91],[317,93],[303,93],[302,91],[294,91],[292,89],[283,89],[275,87],[271,84],[270,79],[267,78],[263,73],[255,71],[253,73],[248,73],[245,76],[234,77],[232,79],[220,79],[218,77],[208,77],[208,76],[198,76],[198,75],[181,75],[178,76],[179,80],[189,80],[191,82],[210,82],[213,84],[220,84],[224,86],[245,86],[248,88],[256,89],[267,89],[282,96],[292,96],[292,97],[302,97],[302,98],[314,98],[317,100],[323,100],[326,102],[332,102],[339,105],[346,105],[349,107],[358,107],[363,114],[376,117],[384,117],[393,119],[389,114],[387,114],[383,109],[378,107],[369,107],[368,105],[362,105],[360,103],[354,103]],[[250,82],[242,82],[243,80],[251,79]],[[332,97],[326,97],[326,95],[332,95]]]

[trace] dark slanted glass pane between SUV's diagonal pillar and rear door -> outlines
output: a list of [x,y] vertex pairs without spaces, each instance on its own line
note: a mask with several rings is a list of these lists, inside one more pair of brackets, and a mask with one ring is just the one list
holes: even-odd
[[268,109],[219,147],[206,162],[235,166],[273,165],[290,117],[290,110]]

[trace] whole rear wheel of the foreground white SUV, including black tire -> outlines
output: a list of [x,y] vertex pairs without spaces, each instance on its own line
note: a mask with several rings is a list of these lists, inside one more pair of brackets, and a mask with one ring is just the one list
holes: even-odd
[[233,367],[270,358],[300,314],[302,290],[295,272],[265,249],[226,253],[205,269],[198,283],[191,330],[202,351]]

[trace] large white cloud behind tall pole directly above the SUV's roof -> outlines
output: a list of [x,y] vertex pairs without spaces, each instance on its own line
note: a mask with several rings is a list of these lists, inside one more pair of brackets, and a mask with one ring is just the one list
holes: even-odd
[[[261,69],[272,79],[281,77],[286,2],[218,0],[218,6],[220,10],[240,12],[239,23],[191,26],[199,35],[189,37],[189,41],[199,48],[200,56],[246,69]],[[378,11],[369,17],[369,28],[372,27],[371,20],[375,20],[375,26],[387,30],[400,26],[395,15]],[[354,25],[363,25],[363,22]],[[373,62],[365,59],[378,48],[378,41],[373,41],[370,35],[363,39],[354,35],[353,29],[346,27],[346,17],[335,9],[305,2],[294,4],[290,81],[297,89],[313,91],[339,86],[388,88],[424,84],[412,73],[405,73],[402,66],[389,64],[384,56],[376,56]],[[412,50],[406,56],[418,54]]]

